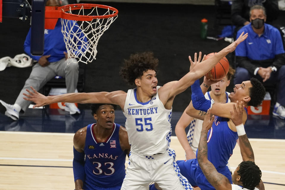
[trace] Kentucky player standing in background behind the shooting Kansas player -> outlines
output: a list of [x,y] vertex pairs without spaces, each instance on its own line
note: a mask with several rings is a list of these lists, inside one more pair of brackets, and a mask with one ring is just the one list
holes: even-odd
[[[227,75],[219,82],[211,85],[211,91],[208,91],[205,94],[205,98],[208,100],[213,99],[215,102],[221,104],[230,102],[228,96],[229,92],[226,92],[226,88],[229,86],[230,80],[234,74],[235,69],[230,66]],[[175,134],[185,151],[186,160],[196,158],[196,150],[200,140],[202,123],[203,120],[189,116],[186,114],[186,110],[184,110],[175,126]],[[190,128],[186,135],[185,128],[189,125]]]

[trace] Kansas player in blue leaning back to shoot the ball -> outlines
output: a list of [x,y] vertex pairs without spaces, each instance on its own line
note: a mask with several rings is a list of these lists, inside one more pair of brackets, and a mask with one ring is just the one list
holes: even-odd
[[[204,94],[209,86],[216,81],[208,80],[204,77],[204,82],[200,86],[197,80],[192,86],[192,101],[186,108],[186,113],[192,117],[204,120],[206,111],[211,107],[211,113],[215,115],[213,126],[208,132],[208,159],[216,167],[219,173],[222,173],[232,182],[231,173],[227,167],[229,157],[235,148],[238,140],[238,133],[235,124],[231,121],[230,110],[236,101],[243,101],[246,106],[257,106],[261,104],[265,96],[265,88],[257,79],[244,81],[242,84],[235,85],[234,92],[229,94],[230,103],[220,104],[213,100],[205,99]],[[206,110],[207,109],[207,110]],[[247,119],[246,108],[243,111],[243,124]],[[196,152],[197,156],[197,152]],[[205,178],[197,159],[178,161],[181,174],[185,176],[192,186],[199,186],[200,189],[215,189]]]

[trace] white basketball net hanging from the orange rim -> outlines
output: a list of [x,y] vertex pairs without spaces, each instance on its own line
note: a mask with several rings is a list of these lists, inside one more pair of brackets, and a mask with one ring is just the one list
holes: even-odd
[[[70,7],[69,9],[69,13],[73,14]],[[102,8],[100,9],[102,10]],[[110,9],[105,10],[106,12],[104,15],[111,15],[115,12]],[[84,15],[83,6],[77,11],[79,11],[79,13],[76,14]],[[97,7],[93,7],[92,9],[88,9],[88,14],[86,15],[100,16],[102,14],[98,15]],[[117,17],[118,15],[109,18],[97,18],[91,21],[66,20],[61,18],[61,32],[64,35],[67,55],[70,60],[69,63],[83,62],[87,64],[93,59],[95,60],[97,54],[96,47],[99,38]]]

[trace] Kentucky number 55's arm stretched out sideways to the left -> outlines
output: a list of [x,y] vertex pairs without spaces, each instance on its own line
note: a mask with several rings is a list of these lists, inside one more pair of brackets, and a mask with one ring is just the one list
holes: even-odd
[[69,93],[61,94],[57,96],[44,96],[37,92],[33,87],[32,91],[26,89],[29,94],[23,93],[25,100],[35,102],[35,107],[40,107],[56,102],[70,102],[70,103],[106,103],[106,104],[116,104],[124,109],[126,101],[126,92],[124,91],[113,91],[113,92],[92,92],[92,93]]

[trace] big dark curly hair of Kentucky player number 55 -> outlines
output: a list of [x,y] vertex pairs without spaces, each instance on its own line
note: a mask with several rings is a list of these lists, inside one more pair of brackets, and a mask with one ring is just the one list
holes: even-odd
[[153,56],[153,52],[131,54],[129,59],[124,60],[120,75],[130,85],[133,85],[137,78],[143,76],[143,72],[149,69],[156,72],[157,66],[158,59]]

